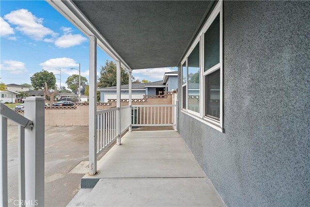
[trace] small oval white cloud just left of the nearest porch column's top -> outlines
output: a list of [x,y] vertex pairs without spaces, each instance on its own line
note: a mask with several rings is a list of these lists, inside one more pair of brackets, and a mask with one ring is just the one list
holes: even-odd
[[86,37],[82,36],[81,34],[64,34],[55,41],[55,45],[58,48],[70,48],[73,46],[80,45],[82,42],[85,42],[87,39]]

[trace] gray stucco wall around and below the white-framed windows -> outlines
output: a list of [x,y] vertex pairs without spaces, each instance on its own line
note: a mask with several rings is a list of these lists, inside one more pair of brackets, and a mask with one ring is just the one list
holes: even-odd
[[310,2],[223,11],[225,133],[182,112],[178,129],[228,206],[310,206]]

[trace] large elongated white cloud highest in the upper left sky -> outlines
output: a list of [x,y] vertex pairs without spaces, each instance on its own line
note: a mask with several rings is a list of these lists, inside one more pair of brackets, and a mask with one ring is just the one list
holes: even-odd
[[12,11],[4,16],[9,23],[17,25],[16,30],[30,36],[34,40],[43,40],[47,35],[56,37],[58,33],[43,26],[43,18],[38,18],[27,9]]

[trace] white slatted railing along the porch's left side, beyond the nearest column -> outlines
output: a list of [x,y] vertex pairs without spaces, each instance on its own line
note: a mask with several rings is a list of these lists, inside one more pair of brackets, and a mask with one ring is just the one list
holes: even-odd
[[[131,106],[104,109],[97,111],[97,154],[108,147],[130,127]],[[121,113],[121,135],[119,135],[117,123],[118,113]]]

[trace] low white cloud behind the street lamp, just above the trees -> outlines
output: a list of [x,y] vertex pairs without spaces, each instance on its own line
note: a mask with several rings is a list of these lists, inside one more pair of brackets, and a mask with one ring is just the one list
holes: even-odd
[[[78,63],[71,58],[53,58],[49,59],[44,63],[40,64],[44,70],[53,72],[54,74],[59,74],[57,69],[62,69],[62,74],[68,74],[69,76],[76,74],[78,75],[78,70],[72,70],[70,68],[77,68]],[[89,70],[81,71],[81,76],[89,76]]]

